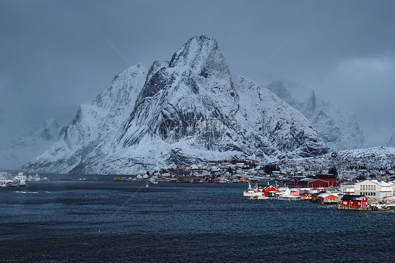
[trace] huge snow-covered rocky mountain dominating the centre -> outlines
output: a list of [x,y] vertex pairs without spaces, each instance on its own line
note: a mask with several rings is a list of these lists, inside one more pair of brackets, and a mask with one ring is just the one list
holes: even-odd
[[117,75],[25,169],[134,174],[197,160],[327,152],[302,113],[268,89],[232,76],[216,40],[200,36],[170,61]]

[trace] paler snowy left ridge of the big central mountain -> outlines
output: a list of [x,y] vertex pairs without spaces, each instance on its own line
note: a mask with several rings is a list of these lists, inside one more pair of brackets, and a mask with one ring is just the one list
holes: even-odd
[[[148,70],[136,65],[114,77],[110,86],[90,104],[81,105],[59,140],[45,153],[34,158],[27,169],[58,173],[72,172],[84,163],[104,160],[115,147],[115,139],[124,120],[134,107]],[[40,167],[40,168],[39,168]],[[102,172],[93,167],[86,173]]]

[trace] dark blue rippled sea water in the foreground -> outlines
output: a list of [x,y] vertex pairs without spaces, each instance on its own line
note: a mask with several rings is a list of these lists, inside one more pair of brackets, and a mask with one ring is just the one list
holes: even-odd
[[246,200],[245,184],[144,186],[0,188],[0,262],[395,262],[392,212]]

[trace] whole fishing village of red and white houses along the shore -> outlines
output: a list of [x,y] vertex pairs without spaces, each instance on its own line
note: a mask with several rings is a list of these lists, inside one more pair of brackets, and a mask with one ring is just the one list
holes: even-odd
[[[179,165],[136,177],[114,177],[115,181],[158,181],[181,183],[246,184],[248,200],[309,200],[320,205],[337,205],[342,210],[395,210],[394,169],[349,169],[304,172],[281,171],[278,165],[252,160],[202,162]],[[320,206],[328,208],[328,206]]]

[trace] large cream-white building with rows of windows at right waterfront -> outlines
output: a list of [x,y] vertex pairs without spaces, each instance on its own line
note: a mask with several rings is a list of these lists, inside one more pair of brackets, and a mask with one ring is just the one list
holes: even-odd
[[385,181],[365,180],[354,185],[354,193],[370,198],[384,198],[394,195],[394,186]]

